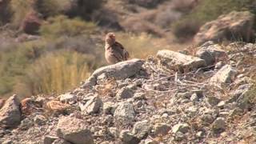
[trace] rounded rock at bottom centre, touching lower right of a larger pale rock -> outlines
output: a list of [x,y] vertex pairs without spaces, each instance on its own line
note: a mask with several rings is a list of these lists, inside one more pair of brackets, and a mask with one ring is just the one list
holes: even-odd
[[150,122],[147,120],[136,122],[134,124],[133,134],[138,139],[146,138],[146,136],[150,133],[152,126]]

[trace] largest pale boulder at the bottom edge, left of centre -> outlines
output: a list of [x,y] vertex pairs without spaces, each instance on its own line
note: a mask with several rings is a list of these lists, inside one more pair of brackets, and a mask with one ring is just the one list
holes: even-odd
[[78,118],[62,117],[58,120],[57,136],[76,144],[93,144],[94,139],[86,123]]

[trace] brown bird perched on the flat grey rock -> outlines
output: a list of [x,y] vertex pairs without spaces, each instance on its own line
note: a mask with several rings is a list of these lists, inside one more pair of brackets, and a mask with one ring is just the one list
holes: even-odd
[[126,61],[129,58],[128,51],[122,46],[121,43],[115,41],[115,34],[106,34],[105,44],[105,58],[106,62],[114,64],[117,62]]

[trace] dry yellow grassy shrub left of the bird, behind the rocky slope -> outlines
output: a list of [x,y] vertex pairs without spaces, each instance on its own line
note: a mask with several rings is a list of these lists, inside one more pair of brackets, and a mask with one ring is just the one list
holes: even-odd
[[93,55],[72,51],[46,54],[30,66],[15,89],[23,94],[28,93],[22,91],[25,87],[31,94],[61,94],[89,76],[91,67],[87,63],[91,61],[95,61]]

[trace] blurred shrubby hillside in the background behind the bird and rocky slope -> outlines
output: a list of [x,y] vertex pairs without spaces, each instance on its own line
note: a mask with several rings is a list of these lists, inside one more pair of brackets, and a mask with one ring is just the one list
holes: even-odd
[[252,15],[249,36],[222,42],[254,42],[255,0],[0,0],[0,95],[60,94],[78,86],[106,65],[107,32],[117,33],[132,58],[146,58],[196,46],[202,26],[234,10]]

